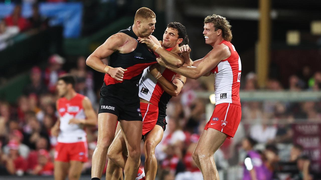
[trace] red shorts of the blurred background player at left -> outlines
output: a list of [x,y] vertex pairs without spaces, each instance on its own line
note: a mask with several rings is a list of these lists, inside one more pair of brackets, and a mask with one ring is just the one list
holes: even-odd
[[81,161],[87,162],[88,160],[88,146],[87,142],[77,143],[57,143],[55,151],[56,161]]

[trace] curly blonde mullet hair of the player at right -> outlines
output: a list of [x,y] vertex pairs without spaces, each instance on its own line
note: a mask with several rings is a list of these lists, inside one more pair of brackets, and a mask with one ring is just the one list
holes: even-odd
[[218,29],[222,30],[222,37],[226,41],[231,41],[232,40],[232,26],[230,25],[230,22],[226,20],[226,18],[213,14],[211,16],[207,16],[204,19],[204,24],[205,23],[213,23],[215,31]]

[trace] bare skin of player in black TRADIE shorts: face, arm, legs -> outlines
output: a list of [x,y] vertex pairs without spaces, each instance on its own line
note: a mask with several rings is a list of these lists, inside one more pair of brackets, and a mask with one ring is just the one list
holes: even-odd
[[[136,36],[151,37],[155,43],[159,44],[157,39],[151,34],[155,29],[156,18],[144,19],[139,17],[135,20],[133,31]],[[100,45],[86,60],[86,64],[102,73],[109,74],[112,78],[122,81],[124,72],[123,68],[113,68],[105,65],[101,60],[109,57],[112,53],[130,53],[137,46],[137,41],[124,34],[116,33],[109,37],[106,42]],[[97,147],[92,157],[91,177],[101,178],[103,168],[106,162],[106,155],[114,139],[115,129],[118,117],[111,113],[98,114],[98,141]],[[129,119],[119,120],[121,128],[125,135],[126,145],[128,147],[128,160],[125,165],[125,177],[133,179],[137,173],[140,164],[140,140],[142,132],[142,121],[126,121]]]

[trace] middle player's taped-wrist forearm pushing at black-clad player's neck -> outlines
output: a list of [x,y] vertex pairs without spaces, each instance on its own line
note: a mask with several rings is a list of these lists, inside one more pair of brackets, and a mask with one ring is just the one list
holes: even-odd
[[184,59],[177,55],[176,53],[169,52],[160,45],[156,44],[154,40],[152,40],[152,35],[150,37],[138,37],[137,41],[140,43],[144,43],[147,45],[147,47],[151,48],[155,53],[160,55],[162,59],[164,59],[169,64],[180,67],[184,63]]

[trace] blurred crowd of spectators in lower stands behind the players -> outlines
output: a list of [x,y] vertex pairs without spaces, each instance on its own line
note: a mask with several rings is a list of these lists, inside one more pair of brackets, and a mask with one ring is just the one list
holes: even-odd
[[[50,129],[57,119],[56,82],[60,75],[67,73],[64,64],[63,57],[57,54],[50,56],[47,68],[35,66],[30,70],[31,83],[24,87],[23,95],[15,104],[0,102],[0,176],[53,175],[56,137],[50,134]],[[94,85],[94,74],[87,67],[85,57],[79,57],[68,73],[76,77],[76,91],[89,97],[94,109],[98,110],[100,88],[95,88],[98,86]],[[320,90],[321,72],[307,74],[292,75],[288,85],[271,79],[267,89],[279,91],[288,86],[290,91]],[[103,74],[99,78],[102,82]],[[241,82],[241,90],[258,89],[255,73],[248,73]],[[203,78],[188,79],[181,93],[170,100],[166,118],[168,125],[155,152],[159,179],[202,179],[192,154],[207,122],[205,110],[209,100],[200,99],[195,91],[211,90],[209,83],[213,82]],[[305,148],[293,142],[292,124],[320,122],[320,101],[242,102],[239,129],[235,137],[227,139],[214,154],[216,166],[222,174],[231,167],[240,167],[243,173],[239,179],[250,179],[253,169],[257,179],[282,179],[279,176],[282,173],[283,179],[287,180],[315,179],[320,172],[311,168],[311,157],[305,153]],[[86,128],[86,132],[89,160],[83,166],[83,174],[90,174],[97,128]],[[143,152],[141,162],[143,167]]]

